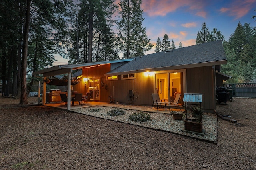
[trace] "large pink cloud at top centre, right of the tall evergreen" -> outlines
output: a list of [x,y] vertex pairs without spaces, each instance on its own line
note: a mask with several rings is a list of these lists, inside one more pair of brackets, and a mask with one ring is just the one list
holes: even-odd
[[198,16],[206,16],[206,12],[203,13],[204,4],[204,0],[145,0],[141,7],[148,16],[166,16],[182,7],[195,14],[198,13]]

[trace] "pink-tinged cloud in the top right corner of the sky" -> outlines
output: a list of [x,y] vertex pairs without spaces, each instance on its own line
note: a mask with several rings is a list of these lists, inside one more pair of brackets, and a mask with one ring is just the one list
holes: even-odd
[[220,8],[220,12],[234,16],[235,19],[245,16],[250,9],[254,8],[256,0],[235,0],[229,4],[229,8]]

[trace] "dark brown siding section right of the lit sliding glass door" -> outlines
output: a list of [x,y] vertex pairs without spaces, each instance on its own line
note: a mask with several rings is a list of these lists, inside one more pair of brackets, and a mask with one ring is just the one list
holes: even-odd
[[202,93],[204,110],[216,109],[215,80],[212,66],[187,69],[187,93]]

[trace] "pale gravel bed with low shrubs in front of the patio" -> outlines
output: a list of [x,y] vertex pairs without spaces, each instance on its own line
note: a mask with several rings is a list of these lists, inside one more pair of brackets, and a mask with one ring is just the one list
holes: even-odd
[[[148,107],[148,106],[141,106],[141,107]],[[90,111],[90,109],[93,109],[93,108],[101,109],[101,111],[99,112]],[[143,127],[161,129],[161,130],[169,131],[172,133],[177,133],[177,134],[187,135],[187,136],[198,138],[198,139],[203,139],[209,142],[216,142],[216,139],[217,139],[217,116],[215,114],[204,113],[203,129],[205,129],[206,133],[204,134],[204,136],[201,136],[201,135],[196,135],[194,133],[183,132],[182,129],[184,128],[184,122],[182,120],[173,120],[172,115],[170,114],[145,112],[150,115],[151,121],[136,122],[136,121],[131,121],[129,119],[129,115],[133,113],[139,113],[139,111],[125,109],[124,115],[108,116],[107,112],[111,111],[112,109],[113,109],[112,107],[93,106],[93,107],[85,107],[82,109],[74,109],[72,111],[86,114],[86,115],[101,117],[104,119],[110,119],[110,120],[120,121],[124,123],[139,125]]]

